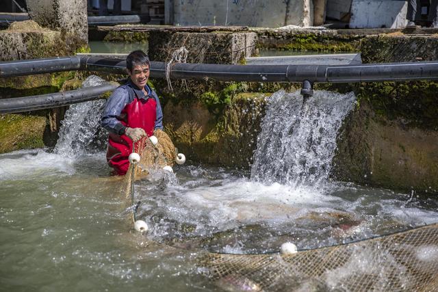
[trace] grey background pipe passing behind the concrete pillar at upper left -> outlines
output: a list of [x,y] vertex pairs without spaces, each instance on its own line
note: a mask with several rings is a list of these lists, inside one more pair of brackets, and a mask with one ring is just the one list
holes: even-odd
[[[28,14],[0,14],[0,25],[10,25],[15,21],[29,20]],[[149,23],[149,14],[112,15],[112,16],[88,16],[88,26],[97,25],[123,25]]]

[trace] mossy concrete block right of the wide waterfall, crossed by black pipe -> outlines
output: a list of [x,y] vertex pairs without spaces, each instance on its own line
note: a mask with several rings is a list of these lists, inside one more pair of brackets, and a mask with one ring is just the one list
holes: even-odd
[[[401,33],[362,41],[364,63],[438,59],[438,38]],[[342,181],[438,194],[438,83],[363,83],[340,131],[333,174]]]

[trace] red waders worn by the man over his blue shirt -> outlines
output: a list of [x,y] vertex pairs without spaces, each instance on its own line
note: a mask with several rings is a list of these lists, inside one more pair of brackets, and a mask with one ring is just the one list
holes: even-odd
[[[142,128],[150,137],[153,135],[157,118],[157,102],[151,97],[147,100],[134,98],[120,113],[120,122],[129,128]],[[133,143],[127,135],[110,133],[107,148],[108,164],[116,174],[125,175],[129,168],[128,157],[132,153]]]

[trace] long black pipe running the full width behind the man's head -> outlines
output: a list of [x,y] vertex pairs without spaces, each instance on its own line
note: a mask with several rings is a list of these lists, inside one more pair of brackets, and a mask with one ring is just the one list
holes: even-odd
[[[38,66],[36,66],[38,64]],[[0,62],[0,77],[88,70],[125,73],[126,62],[114,57],[73,56]],[[151,62],[151,77],[164,78],[166,64]],[[222,65],[175,64],[170,77],[250,82],[380,82],[438,79],[438,61],[361,65]]]

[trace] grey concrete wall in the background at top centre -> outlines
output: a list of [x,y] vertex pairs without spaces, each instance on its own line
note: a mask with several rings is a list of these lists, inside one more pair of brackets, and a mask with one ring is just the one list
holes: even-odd
[[313,25],[311,0],[167,0],[166,5],[172,6],[166,20],[175,25]]

